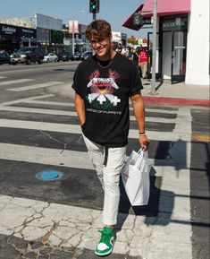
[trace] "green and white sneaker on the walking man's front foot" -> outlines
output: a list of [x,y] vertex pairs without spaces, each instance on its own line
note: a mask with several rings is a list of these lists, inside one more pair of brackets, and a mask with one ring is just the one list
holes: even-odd
[[101,232],[101,239],[95,250],[95,254],[98,256],[109,255],[113,251],[114,233],[113,229],[104,227]]

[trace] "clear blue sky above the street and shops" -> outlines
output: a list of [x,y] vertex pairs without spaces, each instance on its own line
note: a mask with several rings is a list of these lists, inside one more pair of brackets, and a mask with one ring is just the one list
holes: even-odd
[[[88,25],[92,21],[89,13],[89,0],[0,0],[0,18],[34,17],[35,13],[45,14],[63,20],[78,20]],[[144,0],[100,0],[97,19],[110,22],[113,31],[126,33],[128,37],[147,38],[147,29],[130,30],[122,27]]]

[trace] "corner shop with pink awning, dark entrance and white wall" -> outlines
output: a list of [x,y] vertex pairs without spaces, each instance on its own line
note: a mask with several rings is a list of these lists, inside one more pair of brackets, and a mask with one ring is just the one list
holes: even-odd
[[[155,73],[157,78],[187,84],[209,84],[209,1],[157,1],[157,35]],[[134,12],[136,13],[137,10]],[[138,9],[144,20],[153,16],[153,0],[146,0]],[[132,30],[130,18],[122,24]],[[148,32],[148,42],[153,41]],[[148,46],[152,56],[152,46]],[[149,58],[151,61],[151,59]],[[152,66],[148,64],[148,77]]]

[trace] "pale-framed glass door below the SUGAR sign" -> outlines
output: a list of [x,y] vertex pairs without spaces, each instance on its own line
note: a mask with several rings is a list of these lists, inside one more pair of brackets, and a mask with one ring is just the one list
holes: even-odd
[[172,83],[185,81],[187,31],[172,31]]

